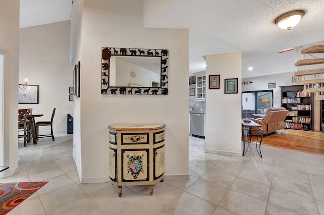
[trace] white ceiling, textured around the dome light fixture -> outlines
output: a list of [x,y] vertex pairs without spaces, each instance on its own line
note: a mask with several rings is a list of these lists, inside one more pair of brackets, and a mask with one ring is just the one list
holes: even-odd
[[[71,0],[20,0],[20,27],[70,19]],[[242,52],[242,78],[295,71],[295,51],[278,50],[324,40],[322,0],[166,0],[145,27],[189,29],[189,73],[204,71],[203,56]],[[305,10],[292,30],[274,20]],[[248,67],[253,67],[249,71]]]

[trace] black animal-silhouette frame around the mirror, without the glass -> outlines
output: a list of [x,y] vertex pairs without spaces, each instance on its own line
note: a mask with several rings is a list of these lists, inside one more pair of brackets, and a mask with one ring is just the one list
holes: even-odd
[[[113,52],[113,53],[112,53]],[[110,86],[110,57],[111,56],[138,56],[160,58],[160,87],[139,86]],[[168,95],[168,49],[144,49],[144,48],[113,48],[101,49],[101,94],[139,94],[139,95]]]

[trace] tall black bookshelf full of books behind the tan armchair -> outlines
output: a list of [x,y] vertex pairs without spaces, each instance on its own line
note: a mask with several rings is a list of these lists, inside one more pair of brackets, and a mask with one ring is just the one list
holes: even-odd
[[289,113],[284,128],[313,131],[313,95],[303,85],[281,86],[281,106]]

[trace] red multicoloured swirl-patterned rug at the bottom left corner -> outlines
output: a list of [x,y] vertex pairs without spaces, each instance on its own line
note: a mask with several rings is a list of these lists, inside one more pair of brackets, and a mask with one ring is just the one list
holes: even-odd
[[48,182],[0,183],[0,215],[8,213]]

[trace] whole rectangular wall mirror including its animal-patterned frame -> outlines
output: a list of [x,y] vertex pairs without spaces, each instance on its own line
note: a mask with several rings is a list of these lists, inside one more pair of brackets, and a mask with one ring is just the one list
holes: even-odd
[[167,49],[102,47],[101,94],[168,94]]

